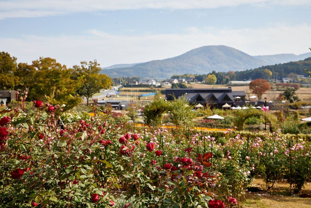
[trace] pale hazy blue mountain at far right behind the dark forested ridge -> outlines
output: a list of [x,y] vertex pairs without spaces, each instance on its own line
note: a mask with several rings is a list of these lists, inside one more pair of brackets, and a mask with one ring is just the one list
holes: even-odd
[[253,57],[259,60],[262,60],[269,65],[273,65],[273,64],[283,64],[283,63],[287,63],[290,61],[304,60],[308,57],[311,57],[311,53],[304,53],[300,55],[288,53],[288,54],[264,55],[264,56],[253,56]]

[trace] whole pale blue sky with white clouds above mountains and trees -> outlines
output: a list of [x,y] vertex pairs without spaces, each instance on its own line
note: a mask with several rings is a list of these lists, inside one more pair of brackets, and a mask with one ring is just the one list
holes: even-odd
[[0,51],[72,67],[160,60],[201,46],[249,55],[311,47],[311,0],[0,0]]

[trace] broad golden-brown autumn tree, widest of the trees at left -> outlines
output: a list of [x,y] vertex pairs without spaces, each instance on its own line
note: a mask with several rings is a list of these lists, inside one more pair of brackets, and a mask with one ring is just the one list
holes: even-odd
[[81,102],[77,89],[81,86],[80,79],[74,79],[74,70],[67,69],[55,59],[40,57],[32,62],[36,70],[30,86],[29,99],[47,100],[51,104],[64,104],[70,109]]

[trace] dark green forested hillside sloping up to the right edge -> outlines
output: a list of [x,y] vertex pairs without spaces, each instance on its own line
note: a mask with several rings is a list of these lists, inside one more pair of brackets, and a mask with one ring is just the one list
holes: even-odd
[[294,73],[297,75],[304,75],[305,77],[310,74],[307,73],[307,70],[311,71],[311,57],[306,58],[300,61],[291,61],[284,64],[275,64],[275,65],[267,65],[262,66],[257,69],[245,70],[245,71],[236,71],[236,80],[248,80],[248,79],[262,79],[262,71],[264,69],[268,69],[272,71],[272,75],[278,76],[278,80],[283,77],[287,77],[290,73]]

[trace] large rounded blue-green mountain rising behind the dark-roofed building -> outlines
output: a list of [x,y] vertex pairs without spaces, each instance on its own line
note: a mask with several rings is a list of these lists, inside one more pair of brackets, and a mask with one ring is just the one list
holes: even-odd
[[237,71],[262,65],[267,63],[228,46],[203,46],[173,58],[153,60],[130,67],[103,69],[102,73],[111,77],[166,79],[174,74],[207,74],[213,70]]

